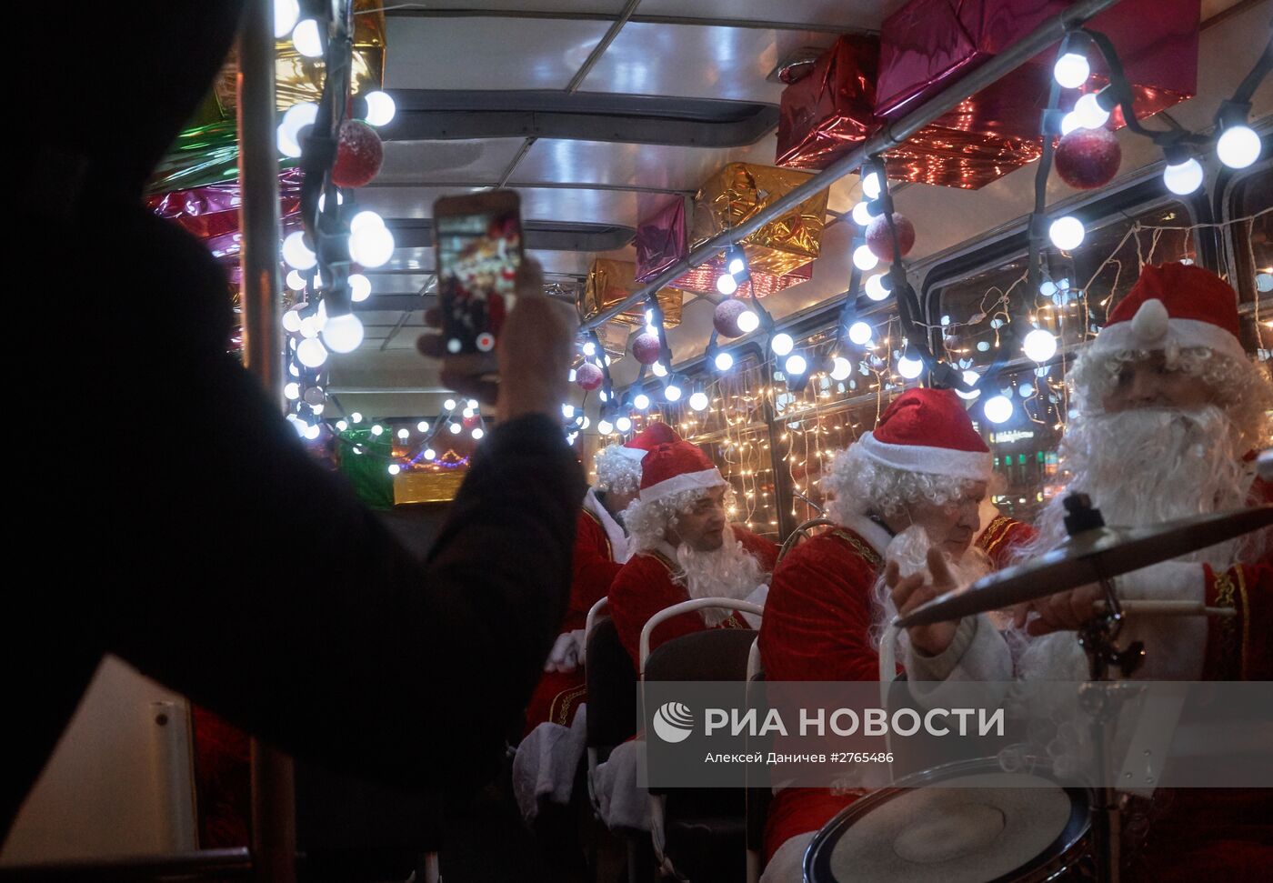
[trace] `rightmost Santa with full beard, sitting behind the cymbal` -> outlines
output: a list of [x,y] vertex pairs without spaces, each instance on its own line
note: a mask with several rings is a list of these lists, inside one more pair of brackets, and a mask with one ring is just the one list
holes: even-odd
[[[1060,445],[1067,492],[1087,494],[1106,524],[1152,525],[1270,500],[1255,452],[1270,440],[1273,386],[1239,342],[1237,296],[1213,274],[1185,263],[1146,266],[1069,374],[1078,408]],[[1058,494],[1040,515],[1031,551],[1066,538]],[[1118,578],[1124,599],[1203,601],[1236,616],[1129,616],[1119,643],[1142,640],[1146,679],[1273,678],[1273,559],[1258,532]],[[904,612],[964,583],[932,567],[894,578]],[[1018,612],[1021,640],[1006,641],[985,617],[910,630],[915,681],[1013,676],[1086,677],[1074,629],[1095,615],[1099,587],[1034,602]],[[1258,793],[1178,791],[1142,852],[1146,879],[1241,878],[1273,866],[1273,827]],[[1262,802],[1263,809],[1249,807]]]

